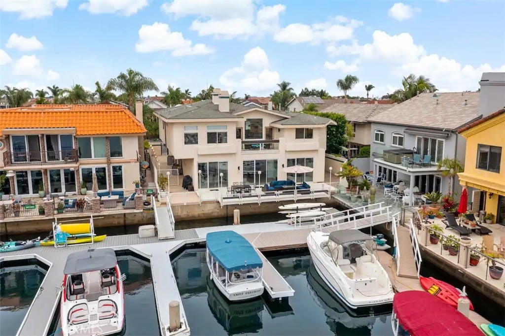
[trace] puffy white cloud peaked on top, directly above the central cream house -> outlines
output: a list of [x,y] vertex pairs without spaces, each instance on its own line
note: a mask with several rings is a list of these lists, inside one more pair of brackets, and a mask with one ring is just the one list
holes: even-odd
[[279,73],[269,67],[265,51],[260,47],[252,48],[239,67],[226,70],[219,77],[219,83],[231,91],[269,92],[280,82]]

